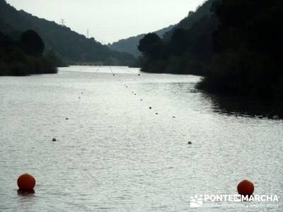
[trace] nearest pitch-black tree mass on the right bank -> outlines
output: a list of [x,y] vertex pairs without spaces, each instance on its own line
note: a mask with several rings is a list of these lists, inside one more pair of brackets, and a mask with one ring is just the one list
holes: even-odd
[[283,100],[283,2],[223,0],[214,10],[217,55],[199,88]]

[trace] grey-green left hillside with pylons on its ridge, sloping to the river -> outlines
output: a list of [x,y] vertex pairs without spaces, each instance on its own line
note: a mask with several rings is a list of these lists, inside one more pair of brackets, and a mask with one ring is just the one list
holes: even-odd
[[14,32],[11,28],[4,27],[1,28],[2,33],[18,40],[21,36],[18,31],[34,30],[45,42],[45,52],[54,52],[68,64],[129,65],[135,61],[132,54],[112,51],[93,37],[79,35],[65,25],[37,18],[25,11],[17,11],[5,0],[0,0],[0,19],[17,30]]

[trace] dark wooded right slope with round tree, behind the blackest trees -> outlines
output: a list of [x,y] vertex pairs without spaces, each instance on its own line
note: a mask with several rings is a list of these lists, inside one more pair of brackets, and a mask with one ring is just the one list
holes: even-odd
[[154,73],[192,73],[203,75],[214,57],[213,33],[218,20],[210,0],[190,12],[163,37],[155,33],[140,40],[142,71]]

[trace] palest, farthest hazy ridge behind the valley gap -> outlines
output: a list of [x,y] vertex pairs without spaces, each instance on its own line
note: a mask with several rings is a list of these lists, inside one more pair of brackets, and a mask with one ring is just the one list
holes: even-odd
[[[170,25],[167,28],[155,31],[154,33],[156,33],[160,37],[163,37],[165,33],[172,30],[174,27],[175,25]],[[139,49],[137,47],[139,45],[139,40],[141,40],[144,35],[146,34],[128,37],[117,42],[113,42],[112,44],[108,45],[108,47],[118,52],[127,52],[134,55],[134,57],[139,57],[141,56],[141,52],[139,52]]]

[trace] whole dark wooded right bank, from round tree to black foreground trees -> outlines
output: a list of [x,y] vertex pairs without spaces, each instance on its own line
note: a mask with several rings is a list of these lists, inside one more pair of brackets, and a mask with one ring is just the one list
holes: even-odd
[[283,100],[281,0],[209,0],[192,17],[167,40],[140,40],[143,71],[199,74],[208,92]]

